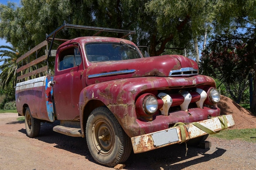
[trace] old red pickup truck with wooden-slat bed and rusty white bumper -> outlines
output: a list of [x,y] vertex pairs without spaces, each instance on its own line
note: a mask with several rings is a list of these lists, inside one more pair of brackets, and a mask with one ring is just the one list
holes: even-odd
[[[17,60],[25,63],[36,53],[17,70],[16,105],[25,116],[28,137],[39,135],[40,122],[59,121],[53,131],[86,137],[94,160],[112,167],[126,161],[132,149],[141,153],[200,142],[234,125],[231,115],[220,116],[213,78],[199,75],[198,64],[182,55],[143,57],[126,39],[78,37],[58,46],[52,73],[40,63],[49,63],[55,35],[67,26],[82,27],[64,23]],[[37,57],[50,41],[50,48]],[[41,67],[25,73],[36,65]]]

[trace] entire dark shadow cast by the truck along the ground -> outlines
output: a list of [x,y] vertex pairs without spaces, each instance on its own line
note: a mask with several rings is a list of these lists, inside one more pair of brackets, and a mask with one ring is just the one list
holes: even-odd
[[[79,154],[91,162],[96,163],[87,148],[86,139],[82,137],[70,137],[52,131],[52,128],[58,123],[52,124],[42,123],[40,136],[36,139],[47,142],[49,144],[56,144],[56,148],[67,150],[69,152]],[[26,134],[25,129],[19,130],[21,133]],[[210,149],[202,149],[198,147],[187,146],[185,144],[175,144],[156,150],[151,150],[146,153],[134,154],[131,153],[128,160],[125,162],[127,170],[179,170],[197,163],[207,162],[216,157],[223,155],[226,150],[216,148],[217,150],[211,154],[207,154]],[[215,150],[215,149],[214,149]],[[186,156],[185,156],[186,155]],[[198,157],[201,155],[201,157]]]

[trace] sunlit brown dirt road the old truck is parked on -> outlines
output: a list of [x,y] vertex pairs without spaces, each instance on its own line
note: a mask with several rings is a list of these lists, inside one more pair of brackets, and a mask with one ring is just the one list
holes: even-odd
[[[84,138],[52,131],[41,124],[40,137],[26,136],[17,113],[0,114],[0,170],[110,170],[94,162]],[[255,135],[255,134],[254,134]],[[207,139],[210,149],[183,144],[132,154],[126,170],[256,170],[256,144],[239,140]]]

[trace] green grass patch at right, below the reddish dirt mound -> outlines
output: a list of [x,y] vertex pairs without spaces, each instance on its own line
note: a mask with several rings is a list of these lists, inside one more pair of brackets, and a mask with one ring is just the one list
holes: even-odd
[[220,131],[216,135],[211,135],[212,137],[219,137],[222,139],[241,139],[247,142],[256,143],[256,128],[254,129],[227,129],[225,131]]

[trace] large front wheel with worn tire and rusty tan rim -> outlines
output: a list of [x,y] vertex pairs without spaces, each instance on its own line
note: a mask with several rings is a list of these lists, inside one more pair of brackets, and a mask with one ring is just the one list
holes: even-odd
[[130,156],[131,140],[107,107],[92,111],[85,131],[88,149],[98,163],[113,167]]

